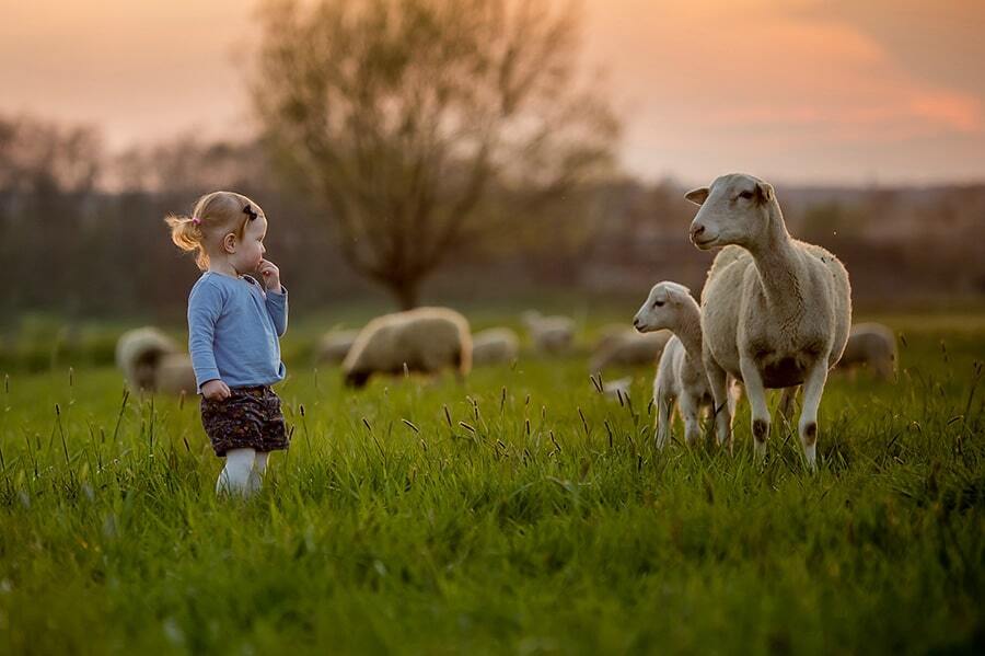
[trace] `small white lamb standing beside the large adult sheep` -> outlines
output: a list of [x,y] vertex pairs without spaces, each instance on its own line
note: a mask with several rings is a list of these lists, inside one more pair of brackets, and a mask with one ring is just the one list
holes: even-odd
[[712,403],[702,364],[702,310],[697,301],[683,285],[658,283],[633,319],[633,325],[641,333],[661,329],[673,333],[653,379],[657,448],[662,449],[670,436],[674,402],[684,419],[684,440],[695,444],[702,434],[699,415]]

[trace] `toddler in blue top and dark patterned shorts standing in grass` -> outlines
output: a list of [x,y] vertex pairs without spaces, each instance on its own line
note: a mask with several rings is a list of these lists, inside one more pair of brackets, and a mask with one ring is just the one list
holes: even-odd
[[[240,194],[212,192],[190,217],[169,216],[171,239],[196,253],[201,277],[188,297],[188,350],[201,423],[225,468],[217,494],[250,496],[260,487],[270,451],[288,448],[280,399],[278,337],[287,331],[287,290],[264,260],[267,217]],[[258,273],[256,278],[247,275]]]

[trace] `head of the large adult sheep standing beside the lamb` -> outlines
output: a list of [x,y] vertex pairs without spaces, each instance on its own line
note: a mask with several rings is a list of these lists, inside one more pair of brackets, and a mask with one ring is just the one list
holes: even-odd
[[702,251],[762,243],[780,217],[773,186],[744,173],[722,175],[684,197],[702,206],[691,222],[691,241]]

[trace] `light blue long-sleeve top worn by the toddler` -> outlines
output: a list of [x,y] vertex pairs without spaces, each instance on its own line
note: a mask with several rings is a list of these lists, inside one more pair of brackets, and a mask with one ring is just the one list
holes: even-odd
[[220,379],[231,388],[283,380],[278,337],[287,332],[287,289],[264,292],[250,276],[206,272],[188,297],[188,352],[198,391]]

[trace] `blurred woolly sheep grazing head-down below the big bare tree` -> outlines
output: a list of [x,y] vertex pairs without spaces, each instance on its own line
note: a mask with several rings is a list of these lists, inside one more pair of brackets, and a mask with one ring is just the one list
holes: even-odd
[[461,380],[472,368],[468,321],[447,308],[385,314],[359,332],[343,362],[346,384],[361,388],[373,373],[437,373],[452,367]]

